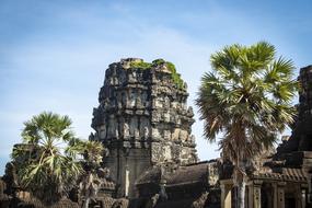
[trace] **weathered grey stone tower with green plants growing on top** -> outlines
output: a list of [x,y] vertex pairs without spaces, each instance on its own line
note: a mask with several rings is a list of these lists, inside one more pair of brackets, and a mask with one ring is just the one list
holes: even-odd
[[128,58],[109,65],[93,112],[91,139],[109,150],[104,165],[117,197],[135,197],[136,180],[154,164],[197,162],[187,96],[171,62]]

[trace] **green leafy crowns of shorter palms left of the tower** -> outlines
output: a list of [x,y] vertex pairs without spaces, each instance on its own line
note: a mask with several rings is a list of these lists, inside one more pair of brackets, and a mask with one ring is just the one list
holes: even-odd
[[13,162],[21,186],[44,203],[57,201],[76,187],[85,164],[100,165],[102,143],[76,138],[68,116],[45,112],[24,125]]

